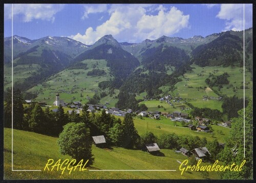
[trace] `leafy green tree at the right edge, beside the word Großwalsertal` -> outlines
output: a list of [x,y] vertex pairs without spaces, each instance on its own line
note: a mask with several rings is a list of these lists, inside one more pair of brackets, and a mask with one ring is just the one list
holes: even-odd
[[[238,111],[239,117],[232,119],[232,128],[226,140],[225,148],[220,160],[226,165],[236,162],[237,165],[246,160],[242,171],[225,171],[221,174],[223,179],[252,179],[252,101],[248,102],[244,109]],[[245,130],[244,130],[245,123]],[[244,149],[245,132],[245,149]],[[245,152],[245,157],[244,157]]]

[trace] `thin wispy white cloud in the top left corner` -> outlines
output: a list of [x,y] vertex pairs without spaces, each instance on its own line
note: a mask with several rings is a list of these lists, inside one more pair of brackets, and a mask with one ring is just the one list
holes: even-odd
[[[63,9],[64,5],[58,4],[13,4],[13,16],[21,16],[24,22],[33,19],[54,21],[54,15]],[[5,4],[5,18],[12,17],[12,5]]]

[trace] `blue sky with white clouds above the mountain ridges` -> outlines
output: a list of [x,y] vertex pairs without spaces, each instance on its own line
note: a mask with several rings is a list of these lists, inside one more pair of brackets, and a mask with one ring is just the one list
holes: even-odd
[[[13,14],[12,14],[13,12]],[[13,15],[13,16],[12,16]],[[163,35],[190,38],[252,27],[252,4],[11,4],[4,5],[4,36],[66,36],[91,45],[112,34],[139,43]]]

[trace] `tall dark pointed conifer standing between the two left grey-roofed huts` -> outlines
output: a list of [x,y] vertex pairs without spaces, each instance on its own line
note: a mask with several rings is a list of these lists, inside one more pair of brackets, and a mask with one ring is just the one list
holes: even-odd
[[126,148],[133,148],[139,138],[138,131],[134,127],[133,116],[131,113],[126,113],[122,123],[123,126],[123,140],[122,146]]

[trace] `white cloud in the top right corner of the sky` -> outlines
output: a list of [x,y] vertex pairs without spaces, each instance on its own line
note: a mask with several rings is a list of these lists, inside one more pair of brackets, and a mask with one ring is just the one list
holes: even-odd
[[[217,17],[226,20],[226,27],[223,31],[244,29],[243,4],[222,4]],[[245,4],[245,29],[250,27],[252,27],[252,5]]]

